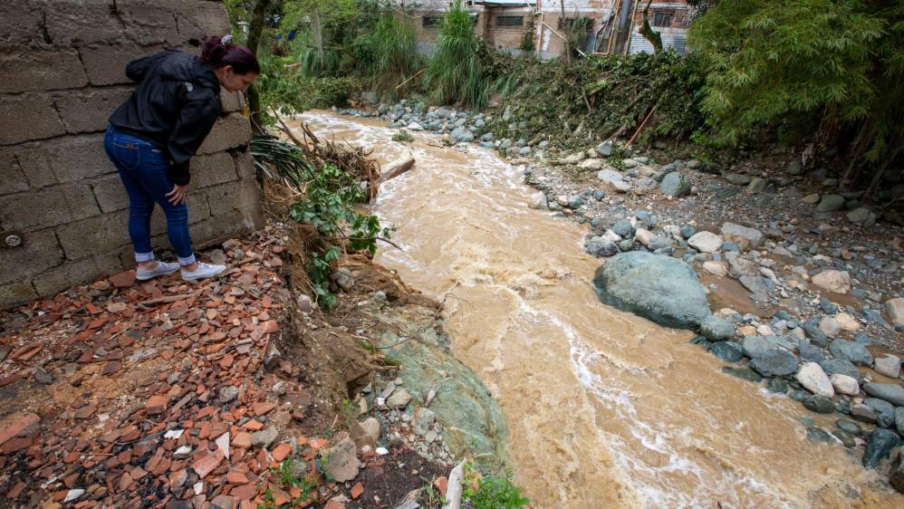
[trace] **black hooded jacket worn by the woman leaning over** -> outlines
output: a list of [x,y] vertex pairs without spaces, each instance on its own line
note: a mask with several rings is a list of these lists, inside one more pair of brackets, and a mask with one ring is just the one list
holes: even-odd
[[222,111],[216,74],[196,56],[168,50],[129,62],[126,76],[139,85],[110,123],[163,150],[171,165],[169,178],[188,185],[188,159]]

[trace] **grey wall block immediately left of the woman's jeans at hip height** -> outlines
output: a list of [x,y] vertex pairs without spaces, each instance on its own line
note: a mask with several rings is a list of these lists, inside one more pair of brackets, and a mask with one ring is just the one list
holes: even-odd
[[[64,136],[38,145],[60,182],[73,182],[116,172],[103,149],[103,133]],[[22,159],[20,158],[20,164]],[[28,175],[28,172],[25,173]]]

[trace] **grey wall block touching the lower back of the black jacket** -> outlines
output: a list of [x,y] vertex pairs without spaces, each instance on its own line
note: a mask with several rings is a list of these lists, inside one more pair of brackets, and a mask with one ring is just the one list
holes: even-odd
[[72,91],[56,101],[63,125],[71,133],[106,130],[110,115],[129,100],[131,87]]

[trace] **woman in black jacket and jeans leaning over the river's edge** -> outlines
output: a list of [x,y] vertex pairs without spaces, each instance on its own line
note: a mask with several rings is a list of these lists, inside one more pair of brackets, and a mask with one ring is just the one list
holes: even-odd
[[[188,160],[220,116],[220,87],[245,91],[261,72],[254,53],[232,37],[210,37],[201,56],[168,50],[130,62],[126,76],[138,87],[110,117],[104,149],[129,195],[129,235],[144,281],[182,268],[187,281],[215,276],[224,265],[195,259],[188,235]],[[159,262],[150,245],[150,214],[167,216],[169,244],[178,264]]]

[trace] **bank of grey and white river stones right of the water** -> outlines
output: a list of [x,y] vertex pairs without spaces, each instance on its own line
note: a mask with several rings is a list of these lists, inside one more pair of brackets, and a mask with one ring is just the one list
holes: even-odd
[[[727,168],[664,146],[561,152],[542,137],[496,139],[491,113],[404,101],[340,112],[496,149],[537,189],[533,208],[588,227],[585,250],[609,260],[595,281],[604,302],[696,331],[726,374],[814,412],[807,437],[848,447],[904,490],[900,227],[825,170],[781,152]],[[638,291],[641,274],[662,277]]]

